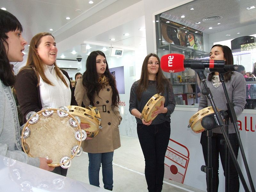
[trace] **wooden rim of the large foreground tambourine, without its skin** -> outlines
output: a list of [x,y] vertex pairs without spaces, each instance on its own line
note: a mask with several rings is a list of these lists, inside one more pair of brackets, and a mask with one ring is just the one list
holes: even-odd
[[[22,145],[22,148],[23,148],[23,150],[24,150],[24,152],[25,153],[27,153],[28,154],[28,156],[30,156],[30,157],[43,157],[43,156],[33,156],[33,155],[31,155],[30,154],[30,149],[29,148],[31,148],[31,146],[29,147],[28,146],[28,144],[26,143],[26,140],[29,138],[29,135],[28,135],[28,137],[26,137],[26,134],[25,134],[25,131],[27,131],[26,133],[28,133],[28,130],[29,130],[29,134],[30,134],[30,129],[29,129],[29,127],[30,126],[32,126],[33,124],[36,124],[37,123],[37,121],[36,121],[36,123],[29,123],[33,118],[35,118],[36,116],[38,116],[38,118],[40,119],[40,117],[46,117],[46,116],[43,116],[43,114],[46,114],[46,112],[49,112],[49,111],[53,111],[53,113],[60,113],[60,112],[63,112],[63,113],[66,113],[67,114],[67,116],[66,117],[63,117],[63,118],[72,118],[72,120],[73,120],[73,122],[75,122],[75,125],[77,126],[77,127],[72,127],[72,128],[74,128],[75,130],[76,130],[76,133],[77,134],[79,134],[80,133],[80,136],[82,136],[84,133],[82,132],[83,130],[80,128],[80,124],[79,124],[79,122],[78,122],[78,120],[76,119],[76,117],[75,116],[73,116],[73,115],[71,115],[71,114],[69,114],[67,111],[65,111],[65,110],[61,110],[61,109],[57,109],[57,108],[47,108],[47,109],[43,109],[43,110],[41,110],[41,111],[39,111],[39,112],[37,112],[37,113],[35,113],[33,116],[31,116],[29,119],[28,119],[28,121],[27,121],[27,123],[24,125],[24,128],[22,129],[22,132],[21,132],[21,145]],[[46,118],[51,118],[51,117],[46,117]],[[61,117],[60,117],[61,118]],[[70,121],[70,120],[69,120]],[[28,128],[28,129],[27,129]],[[75,137],[75,133],[72,135],[72,136],[74,136]],[[85,137],[86,138],[86,137]],[[56,162],[53,162],[52,164],[48,164],[50,167],[57,167],[57,166],[63,166],[64,164],[67,164],[68,162],[72,162],[71,160],[77,155],[77,153],[79,152],[79,149],[80,149],[80,147],[81,147],[81,143],[82,143],[82,139],[77,139],[77,138],[75,138],[76,139],[76,143],[74,144],[74,146],[73,147],[75,147],[75,145],[76,145],[76,151],[74,151],[73,150],[73,153],[74,154],[72,154],[72,148],[70,148],[70,154],[63,154],[63,157],[69,157],[68,158],[68,160],[67,159],[65,159],[65,161],[63,162],[63,163],[56,163]],[[47,142],[47,141],[46,141]],[[27,145],[27,146],[25,146],[25,145]],[[36,147],[36,146],[35,146]],[[28,150],[27,150],[28,149]],[[80,151],[80,153],[82,153],[82,151]],[[71,165],[71,164],[70,164]],[[69,165],[69,166],[70,166]],[[64,168],[64,167],[63,167]]]

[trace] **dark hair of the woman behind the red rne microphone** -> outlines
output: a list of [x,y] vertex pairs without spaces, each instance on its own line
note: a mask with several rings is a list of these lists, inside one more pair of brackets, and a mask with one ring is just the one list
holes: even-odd
[[[216,46],[220,47],[224,53],[224,58],[226,59],[225,65],[233,65],[234,59],[233,59],[233,54],[232,54],[231,49],[226,45],[220,45],[220,44],[213,45],[212,48],[216,47]],[[211,48],[211,50],[212,50],[212,48]],[[233,73],[232,71],[229,71],[224,74],[225,81],[229,81],[231,79],[232,73]],[[214,75],[214,72],[212,72],[208,75],[208,81],[212,81],[213,75]]]

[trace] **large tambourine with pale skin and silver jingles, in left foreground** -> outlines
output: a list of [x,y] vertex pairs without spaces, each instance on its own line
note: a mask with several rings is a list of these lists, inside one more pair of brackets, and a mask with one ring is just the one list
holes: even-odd
[[80,119],[68,113],[67,107],[45,106],[39,112],[31,111],[21,132],[21,144],[30,157],[52,159],[50,167],[67,169],[72,159],[81,156],[81,142],[86,132],[80,128]]

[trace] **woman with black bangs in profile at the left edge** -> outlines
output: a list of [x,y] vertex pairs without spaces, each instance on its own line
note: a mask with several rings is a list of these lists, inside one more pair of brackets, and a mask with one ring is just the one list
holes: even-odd
[[52,171],[52,160],[28,157],[21,149],[20,124],[11,86],[14,74],[10,62],[23,61],[22,26],[15,16],[0,9],[0,155]]

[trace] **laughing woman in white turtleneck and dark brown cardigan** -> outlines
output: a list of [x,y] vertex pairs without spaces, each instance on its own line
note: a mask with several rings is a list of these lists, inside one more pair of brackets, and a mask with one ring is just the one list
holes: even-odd
[[[30,111],[50,105],[77,105],[68,73],[56,65],[58,49],[51,33],[38,33],[30,42],[28,60],[15,79],[23,123]],[[67,175],[67,169],[56,167],[53,172]]]

